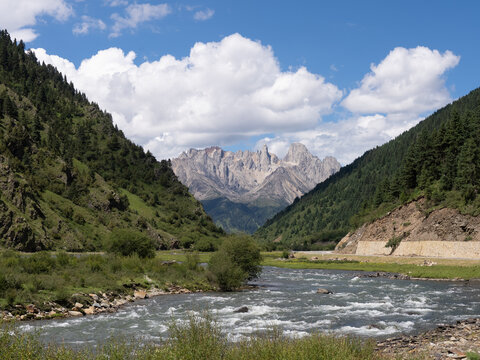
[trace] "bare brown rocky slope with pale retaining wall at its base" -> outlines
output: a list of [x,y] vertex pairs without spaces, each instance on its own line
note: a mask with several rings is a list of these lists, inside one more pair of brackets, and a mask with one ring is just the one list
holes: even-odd
[[[390,245],[390,246],[386,246]],[[357,255],[480,257],[480,217],[432,211],[421,198],[347,234],[336,252]]]

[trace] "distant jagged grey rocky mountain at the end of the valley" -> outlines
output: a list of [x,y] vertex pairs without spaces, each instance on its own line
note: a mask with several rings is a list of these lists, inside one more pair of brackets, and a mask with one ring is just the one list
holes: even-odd
[[[321,160],[303,144],[294,143],[283,159],[270,153],[266,145],[256,152],[231,152],[219,147],[190,149],[173,159],[172,167],[217,223],[227,230],[252,232],[268,216],[337,172],[340,164],[333,157]],[[230,209],[236,208],[235,219],[232,214],[217,211],[219,204],[225,207],[225,202]],[[242,227],[236,221],[238,216],[250,225]],[[232,226],[232,221],[238,224]]]

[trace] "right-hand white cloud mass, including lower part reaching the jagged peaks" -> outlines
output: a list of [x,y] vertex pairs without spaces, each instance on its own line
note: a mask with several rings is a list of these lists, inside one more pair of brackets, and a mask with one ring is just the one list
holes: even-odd
[[333,155],[348,164],[449,103],[444,74],[459,60],[450,51],[395,48],[378,65],[371,65],[359,87],[341,102],[351,115],[308,131],[277,133],[258,141],[256,147],[268,144],[283,156],[290,143],[301,142],[314,154]]

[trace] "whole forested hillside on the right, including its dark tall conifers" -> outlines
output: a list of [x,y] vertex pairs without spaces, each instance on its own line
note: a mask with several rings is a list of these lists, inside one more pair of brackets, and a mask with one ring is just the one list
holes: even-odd
[[411,199],[478,214],[480,89],[367,151],[260,228],[256,237],[296,249],[336,241]]

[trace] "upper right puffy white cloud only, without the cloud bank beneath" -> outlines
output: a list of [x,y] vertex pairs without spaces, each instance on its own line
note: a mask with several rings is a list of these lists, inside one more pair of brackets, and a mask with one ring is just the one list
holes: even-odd
[[451,51],[395,48],[380,64],[371,65],[371,72],[342,105],[362,114],[421,114],[441,107],[450,101],[442,75],[459,61]]

